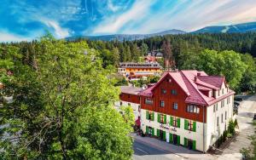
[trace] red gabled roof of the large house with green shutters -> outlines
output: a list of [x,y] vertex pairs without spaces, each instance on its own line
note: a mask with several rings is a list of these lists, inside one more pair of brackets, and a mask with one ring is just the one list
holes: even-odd
[[[201,90],[212,91],[212,89],[221,89],[223,83],[225,83],[224,77],[208,76],[204,71],[187,70],[187,71],[166,71],[158,83],[148,89],[143,90],[140,95],[152,96],[154,89],[159,86],[163,80],[170,76],[180,86],[181,89],[187,94],[185,100],[186,103],[193,103],[202,106],[209,106],[215,100],[220,100],[213,97],[208,97],[203,94]],[[226,84],[226,83],[225,83]],[[229,94],[235,94],[234,91],[229,89]]]

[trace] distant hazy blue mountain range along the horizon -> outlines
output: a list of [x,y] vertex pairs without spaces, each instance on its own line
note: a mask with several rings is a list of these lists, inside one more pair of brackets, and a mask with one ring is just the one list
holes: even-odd
[[234,32],[247,32],[247,31],[256,31],[256,22],[248,22],[248,23],[241,23],[236,25],[230,26],[206,26],[196,31],[182,31],[177,29],[167,30],[167,31],[160,31],[151,34],[113,34],[113,35],[101,35],[101,36],[74,36],[74,37],[67,37],[67,40],[76,40],[78,38],[88,38],[90,40],[102,40],[102,41],[132,41],[143,39],[147,37],[154,37],[154,36],[164,36],[168,34],[176,35],[176,34],[189,34],[189,33],[234,33]]

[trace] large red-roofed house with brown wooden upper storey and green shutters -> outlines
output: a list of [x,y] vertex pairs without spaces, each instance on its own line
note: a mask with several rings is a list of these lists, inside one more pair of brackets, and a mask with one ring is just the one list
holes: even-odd
[[[204,71],[167,71],[137,94],[143,133],[206,152],[233,119],[235,92]],[[120,97],[121,101],[130,101]]]

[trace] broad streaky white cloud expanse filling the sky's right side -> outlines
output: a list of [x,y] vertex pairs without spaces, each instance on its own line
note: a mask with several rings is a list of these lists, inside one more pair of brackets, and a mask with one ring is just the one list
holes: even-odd
[[[139,2],[117,17],[110,17],[96,27],[99,33],[152,33],[169,29],[195,31],[204,26],[236,24],[256,20],[256,1],[178,1],[157,10],[148,10],[150,2],[139,12]],[[172,6],[171,6],[172,5]],[[122,29],[122,31],[120,31]]]

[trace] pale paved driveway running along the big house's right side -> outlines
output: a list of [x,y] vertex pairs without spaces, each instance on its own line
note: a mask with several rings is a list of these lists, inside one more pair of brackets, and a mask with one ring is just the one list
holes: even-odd
[[240,150],[251,145],[251,140],[248,140],[248,136],[254,134],[252,125],[254,113],[256,113],[256,95],[241,102],[236,116],[239,134],[232,140],[230,146],[224,149],[223,154],[218,159],[241,159]]

